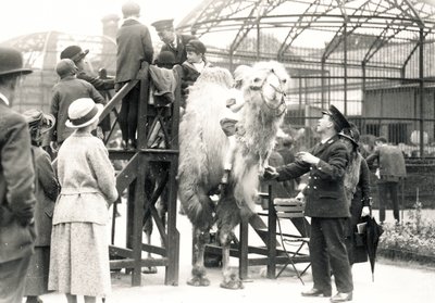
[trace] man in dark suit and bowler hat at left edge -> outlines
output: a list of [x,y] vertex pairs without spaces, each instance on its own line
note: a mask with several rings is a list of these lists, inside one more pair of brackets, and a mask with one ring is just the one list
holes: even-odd
[[0,48],[0,303],[21,303],[34,252],[34,165],[22,115],[9,106],[23,68],[18,51]]

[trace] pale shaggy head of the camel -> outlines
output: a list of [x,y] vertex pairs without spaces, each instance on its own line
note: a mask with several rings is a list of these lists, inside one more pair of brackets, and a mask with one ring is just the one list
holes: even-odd
[[289,81],[290,77],[281,63],[259,62],[252,67],[246,89],[250,90],[251,102],[263,102],[276,114],[283,114],[286,109],[284,97],[288,91]]

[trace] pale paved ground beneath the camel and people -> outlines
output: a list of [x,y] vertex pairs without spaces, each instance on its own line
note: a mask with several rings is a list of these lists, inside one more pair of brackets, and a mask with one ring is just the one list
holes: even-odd
[[[124,215],[123,215],[124,216]],[[387,220],[393,215],[387,213]],[[113,292],[105,302],[330,302],[324,298],[302,298],[300,292],[312,286],[311,272],[304,276],[303,286],[291,270],[284,272],[276,280],[264,277],[264,267],[249,268],[249,280],[243,290],[226,290],[219,287],[221,273],[219,268],[209,269],[211,286],[192,288],[186,285],[190,273],[190,224],[184,216],[178,216],[177,227],[181,231],[181,268],[179,286],[164,286],[164,268],[159,267],[158,274],[142,275],[141,287],[130,287],[130,277],[113,275]],[[232,260],[237,266],[237,260]],[[417,268],[411,265],[394,264],[380,261],[375,268],[375,280],[372,281],[369,263],[353,266],[355,292],[353,302],[435,302],[435,269]],[[45,303],[66,302],[63,294],[50,293],[41,298]],[[82,301],[79,301],[82,302]]]

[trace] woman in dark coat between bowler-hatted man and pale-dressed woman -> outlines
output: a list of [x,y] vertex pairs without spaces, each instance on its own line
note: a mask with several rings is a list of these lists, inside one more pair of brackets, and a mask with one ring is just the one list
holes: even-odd
[[51,166],[50,155],[40,148],[44,135],[54,126],[54,117],[39,110],[23,113],[32,139],[32,154],[35,167],[35,253],[26,276],[24,295],[26,303],[37,303],[39,295],[48,292],[50,263],[51,217],[58,198],[59,184]]

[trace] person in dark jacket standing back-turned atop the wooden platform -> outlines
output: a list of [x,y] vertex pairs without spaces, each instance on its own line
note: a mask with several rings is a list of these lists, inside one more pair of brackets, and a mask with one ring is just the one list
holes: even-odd
[[[116,34],[116,77],[115,90],[124,84],[137,79],[144,61],[151,64],[153,49],[148,27],[138,21],[139,4],[128,1],[122,7],[124,23]],[[124,149],[136,148],[137,113],[140,98],[138,83],[122,101],[119,122],[123,137]]]

